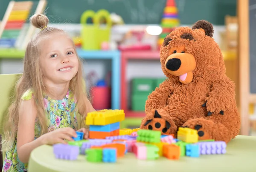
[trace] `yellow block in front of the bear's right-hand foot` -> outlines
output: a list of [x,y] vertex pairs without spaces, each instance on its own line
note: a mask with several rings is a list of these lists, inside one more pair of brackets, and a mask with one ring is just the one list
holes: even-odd
[[198,131],[195,129],[179,127],[177,139],[186,143],[196,143],[198,142]]

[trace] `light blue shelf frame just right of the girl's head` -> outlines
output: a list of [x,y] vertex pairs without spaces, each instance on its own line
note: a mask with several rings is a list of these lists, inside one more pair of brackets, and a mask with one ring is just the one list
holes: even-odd
[[77,49],[81,59],[110,59],[111,72],[111,109],[120,109],[120,52],[119,51],[84,51]]

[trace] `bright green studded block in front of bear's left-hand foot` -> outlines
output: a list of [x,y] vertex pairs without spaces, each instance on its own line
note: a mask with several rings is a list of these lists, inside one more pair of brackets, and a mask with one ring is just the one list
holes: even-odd
[[137,131],[137,135],[137,141],[147,143],[160,143],[161,141],[160,131],[141,129]]

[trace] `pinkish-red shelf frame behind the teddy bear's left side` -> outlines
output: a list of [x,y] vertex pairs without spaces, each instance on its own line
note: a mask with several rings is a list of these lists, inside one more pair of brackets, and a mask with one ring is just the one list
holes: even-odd
[[121,109],[125,112],[126,118],[142,118],[145,112],[135,112],[128,109],[127,102],[127,86],[126,69],[128,60],[159,60],[159,51],[122,51],[121,52]]

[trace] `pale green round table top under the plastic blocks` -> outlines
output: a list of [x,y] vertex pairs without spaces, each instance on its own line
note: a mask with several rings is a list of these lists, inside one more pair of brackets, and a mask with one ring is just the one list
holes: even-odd
[[29,172],[256,172],[256,137],[237,136],[227,144],[223,155],[201,155],[169,160],[139,160],[132,153],[116,163],[91,163],[85,155],[76,161],[56,159],[52,146],[34,149],[29,159]]

